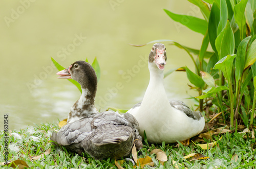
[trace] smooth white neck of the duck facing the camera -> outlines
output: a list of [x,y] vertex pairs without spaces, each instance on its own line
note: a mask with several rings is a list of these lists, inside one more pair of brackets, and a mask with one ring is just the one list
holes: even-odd
[[153,102],[168,104],[168,98],[163,84],[163,70],[160,70],[156,64],[148,63],[150,69],[150,83],[147,86],[142,105],[148,106]]

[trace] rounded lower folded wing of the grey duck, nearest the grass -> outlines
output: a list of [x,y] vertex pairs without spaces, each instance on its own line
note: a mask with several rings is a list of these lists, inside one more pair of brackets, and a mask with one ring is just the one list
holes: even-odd
[[104,124],[82,141],[84,150],[95,159],[120,158],[131,153],[134,141],[129,126]]

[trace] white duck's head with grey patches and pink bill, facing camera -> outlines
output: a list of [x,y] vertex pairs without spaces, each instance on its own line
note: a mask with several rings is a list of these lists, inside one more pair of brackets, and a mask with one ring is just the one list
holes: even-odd
[[149,63],[155,63],[156,66],[160,69],[164,69],[164,65],[166,64],[166,48],[162,43],[155,43],[152,46],[152,50],[150,52],[150,56],[148,56]]

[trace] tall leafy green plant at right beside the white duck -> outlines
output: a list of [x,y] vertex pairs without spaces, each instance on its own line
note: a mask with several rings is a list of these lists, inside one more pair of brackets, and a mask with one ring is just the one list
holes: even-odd
[[[196,98],[200,99],[201,111],[211,100],[222,112],[223,123],[230,117],[230,126],[240,119],[244,124],[250,119],[252,125],[256,100],[256,1],[188,1],[200,8],[204,19],[164,11],[173,20],[204,35],[200,50],[166,39],[146,44],[170,41],[187,52],[196,71],[183,68],[188,80],[195,85],[193,88],[199,92]],[[209,43],[212,52],[207,51]],[[167,71],[165,77],[173,71]],[[241,104],[248,109],[241,109]]]

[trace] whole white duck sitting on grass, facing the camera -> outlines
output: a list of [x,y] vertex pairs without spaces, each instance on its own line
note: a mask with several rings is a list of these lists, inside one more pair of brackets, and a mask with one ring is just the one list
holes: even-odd
[[145,131],[147,140],[153,143],[184,141],[199,134],[205,126],[200,112],[191,111],[181,101],[168,100],[163,84],[166,60],[165,46],[154,44],[148,57],[150,83],[144,98],[127,111],[137,119],[140,135],[143,137]]

